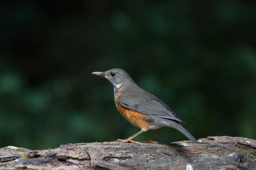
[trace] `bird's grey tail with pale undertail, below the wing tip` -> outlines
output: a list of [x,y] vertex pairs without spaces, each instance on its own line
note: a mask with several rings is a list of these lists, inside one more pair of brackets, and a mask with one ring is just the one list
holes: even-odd
[[183,133],[189,140],[197,142],[197,139],[194,136],[192,136],[185,128],[183,128],[183,126],[181,124],[179,124],[173,120],[161,118],[161,117],[158,117],[158,120],[156,120],[156,117],[155,117],[155,121],[158,123],[158,125],[167,126],[170,128],[177,129],[178,131]]

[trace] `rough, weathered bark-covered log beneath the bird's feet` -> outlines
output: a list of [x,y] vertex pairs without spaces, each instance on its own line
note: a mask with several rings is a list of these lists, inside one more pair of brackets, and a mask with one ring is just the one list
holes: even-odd
[[0,169],[256,169],[256,140],[214,136],[198,143],[94,142],[36,151],[5,147]]

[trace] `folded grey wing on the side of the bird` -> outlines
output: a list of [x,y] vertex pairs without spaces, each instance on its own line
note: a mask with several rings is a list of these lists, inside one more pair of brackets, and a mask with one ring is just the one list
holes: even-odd
[[133,111],[183,122],[165,103],[143,89],[121,94],[119,102]]

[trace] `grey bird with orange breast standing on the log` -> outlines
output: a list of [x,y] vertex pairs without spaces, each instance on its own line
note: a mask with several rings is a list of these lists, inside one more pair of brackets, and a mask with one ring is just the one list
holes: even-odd
[[158,144],[153,140],[156,134],[162,127],[170,127],[180,131],[189,140],[197,142],[195,137],[183,128],[181,123],[184,122],[173,110],[155,95],[140,88],[123,69],[113,68],[92,74],[105,78],[113,85],[117,110],[128,122],[141,129],[129,138],[117,141],[141,144],[133,138],[147,130],[156,130],[153,136],[144,142]]

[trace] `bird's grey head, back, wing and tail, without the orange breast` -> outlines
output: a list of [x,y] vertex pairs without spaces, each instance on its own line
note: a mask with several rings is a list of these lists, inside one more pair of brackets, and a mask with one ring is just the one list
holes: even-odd
[[183,121],[174,111],[155,95],[140,88],[124,70],[113,68],[105,72],[93,72],[93,74],[106,78],[114,86],[115,95],[118,94],[119,103],[123,107],[146,114],[150,122],[148,129],[166,126],[177,129],[192,141],[197,141],[182,127],[180,123]]

